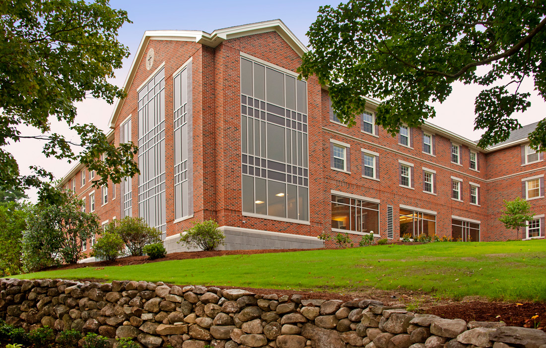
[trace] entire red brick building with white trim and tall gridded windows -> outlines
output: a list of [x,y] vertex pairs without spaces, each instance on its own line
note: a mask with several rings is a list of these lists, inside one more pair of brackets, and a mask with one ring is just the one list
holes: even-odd
[[[76,165],[61,185],[103,224],[144,217],[170,252],[192,222],[210,218],[232,249],[319,247],[319,234],[337,232],[354,241],[370,231],[544,236],[543,154],[526,146],[536,124],[488,149],[430,123],[391,137],[368,100],[349,128],[327,86],[296,79],[305,51],[280,20],[145,32],[108,134],[138,144],[140,175],[95,189]],[[498,222],[502,200],[517,196],[536,213],[520,235]]]

